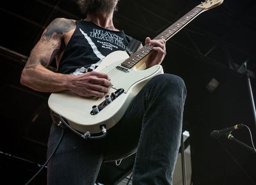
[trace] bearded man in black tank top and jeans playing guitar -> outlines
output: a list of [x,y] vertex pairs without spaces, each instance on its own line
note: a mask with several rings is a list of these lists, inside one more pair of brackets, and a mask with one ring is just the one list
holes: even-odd
[[[118,0],[80,0],[84,20],[52,20],[31,50],[21,84],[40,92],[71,91],[82,98],[104,97],[114,79],[95,69],[112,52],[125,51],[131,41],[113,25],[117,3]],[[164,39],[146,38],[145,43],[152,47],[145,60],[147,70],[161,64],[166,47]],[[56,61],[58,73],[47,69],[52,61]],[[47,184],[93,185],[102,162],[124,159],[134,152],[132,184],[172,184],[185,99],[186,87],[180,77],[159,74],[132,98],[106,137],[83,140],[65,129],[63,140],[47,165]],[[47,157],[56,147],[61,130],[52,124]]]

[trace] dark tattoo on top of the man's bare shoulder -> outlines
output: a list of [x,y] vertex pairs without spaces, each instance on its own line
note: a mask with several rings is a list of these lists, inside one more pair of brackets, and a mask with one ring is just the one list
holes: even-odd
[[66,19],[66,18],[56,18],[52,20],[51,24],[46,27],[43,36],[47,38],[51,38],[52,34],[63,34],[68,33],[68,31],[74,29],[76,27],[76,23],[74,20]]

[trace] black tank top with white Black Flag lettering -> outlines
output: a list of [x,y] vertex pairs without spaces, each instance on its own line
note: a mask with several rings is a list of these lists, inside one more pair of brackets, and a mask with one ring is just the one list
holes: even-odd
[[125,50],[131,39],[124,31],[111,31],[86,20],[77,20],[58,71],[72,75],[92,71],[111,52]]

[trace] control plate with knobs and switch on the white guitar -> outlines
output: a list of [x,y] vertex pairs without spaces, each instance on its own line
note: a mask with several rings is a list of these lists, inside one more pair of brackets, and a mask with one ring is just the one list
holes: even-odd
[[107,107],[112,101],[115,101],[118,96],[124,93],[124,89],[118,89],[115,93],[111,93],[111,95],[105,96],[105,100],[102,101],[99,105],[93,105],[92,111],[90,112],[91,115],[98,114],[101,110]]

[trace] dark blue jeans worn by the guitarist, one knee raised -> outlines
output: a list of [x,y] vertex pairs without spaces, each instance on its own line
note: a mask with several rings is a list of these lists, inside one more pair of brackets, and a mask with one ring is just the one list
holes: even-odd
[[[100,140],[84,140],[67,128],[47,165],[47,183],[93,185],[104,161],[136,152],[132,184],[172,184],[179,152],[186,87],[180,77],[157,75],[132,100],[124,117]],[[52,124],[47,156],[61,128]]]

